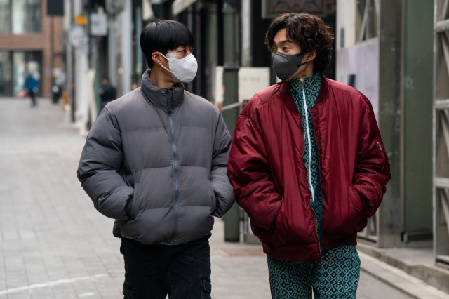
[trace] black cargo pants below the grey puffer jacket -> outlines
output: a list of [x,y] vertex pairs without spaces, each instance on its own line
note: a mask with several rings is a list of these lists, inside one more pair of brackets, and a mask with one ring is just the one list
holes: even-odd
[[124,299],[210,299],[209,237],[173,246],[121,238]]

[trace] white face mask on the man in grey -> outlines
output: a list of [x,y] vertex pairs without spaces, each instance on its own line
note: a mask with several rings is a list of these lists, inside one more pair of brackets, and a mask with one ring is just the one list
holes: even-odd
[[158,53],[168,60],[168,67],[170,67],[170,69],[167,69],[163,65],[161,65],[161,67],[171,73],[171,77],[173,77],[173,81],[175,81],[175,83],[189,83],[195,78],[198,63],[196,62],[196,58],[193,54],[189,54],[182,59],[177,59],[175,53],[167,54],[168,57],[164,56],[160,52]]

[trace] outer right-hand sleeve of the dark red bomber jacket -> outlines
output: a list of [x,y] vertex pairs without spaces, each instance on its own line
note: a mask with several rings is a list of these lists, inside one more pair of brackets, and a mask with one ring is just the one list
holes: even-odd
[[[363,220],[366,221],[377,211],[391,178],[388,155],[385,151],[373,107],[364,98],[366,109],[361,121],[358,161],[354,188],[363,206]],[[363,227],[364,225],[362,225]]]

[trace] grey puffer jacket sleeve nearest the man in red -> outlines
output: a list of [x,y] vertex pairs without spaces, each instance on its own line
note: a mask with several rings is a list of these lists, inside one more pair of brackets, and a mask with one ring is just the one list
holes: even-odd
[[217,198],[217,208],[213,214],[216,217],[225,215],[236,201],[232,193],[231,182],[229,182],[227,176],[227,161],[231,150],[231,142],[231,135],[229,135],[225,121],[220,114],[215,130],[212,169],[210,171],[210,182]]

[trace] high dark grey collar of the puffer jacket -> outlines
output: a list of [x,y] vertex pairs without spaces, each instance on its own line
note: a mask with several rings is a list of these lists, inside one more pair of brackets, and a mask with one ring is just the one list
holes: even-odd
[[175,84],[173,89],[159,88],[154,82],[149,79],[149,69],[142,76],[141,91],[145,99],[154,107],[168,111],[168,106],[171,109],[180,107],[184,99],[184,85],[182,83]]

